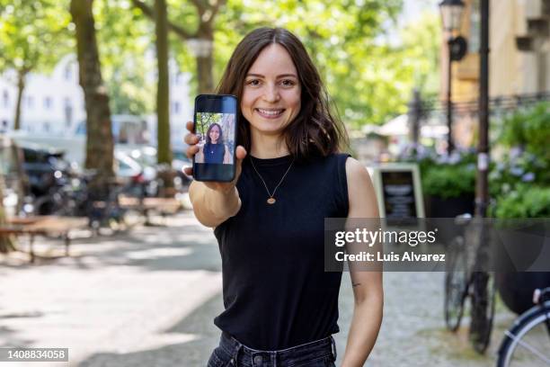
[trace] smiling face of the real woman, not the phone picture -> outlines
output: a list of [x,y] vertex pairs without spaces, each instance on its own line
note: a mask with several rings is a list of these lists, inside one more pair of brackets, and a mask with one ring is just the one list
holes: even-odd
[[287,49],[272,43],[244,79],[241,111],[254,135],[280,135],[300,112],[301,85]]

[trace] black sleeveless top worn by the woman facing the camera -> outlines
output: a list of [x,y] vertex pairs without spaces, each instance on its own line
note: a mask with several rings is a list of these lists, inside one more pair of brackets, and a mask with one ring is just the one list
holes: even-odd
[[222,256],[225,311],[214,323],[246,346],[278,350],[339,331],[342,273],[324,272],[324,218],[348,216],[348,155],[296,162],[246,157],[242,206],[214,230]]

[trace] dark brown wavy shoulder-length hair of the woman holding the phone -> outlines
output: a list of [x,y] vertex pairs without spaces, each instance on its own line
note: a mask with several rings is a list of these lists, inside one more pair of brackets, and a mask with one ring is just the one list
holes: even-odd
[[239,100],[237,143],[250,152],[250,123],[244,119],[240,106],[244,79],[262,49],[273,43],[287,49],[302,86],[300,112],[283,130],[290,155],[299,160],[327,157],[348,148],[346,130],[338,114],[331,111],[330,97],[302,42],[284,28],[267,27],[251,31],[239,42],[217,85],[217,94],[234,94]]

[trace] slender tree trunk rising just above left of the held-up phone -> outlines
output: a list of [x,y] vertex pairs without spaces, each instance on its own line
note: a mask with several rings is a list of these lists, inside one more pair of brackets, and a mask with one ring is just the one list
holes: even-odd
[[172,164],[170,148],[170,88],[168,76],[168,17],[166,0],[155,0],[155,46],[158,67],[156,90],[157,160]]

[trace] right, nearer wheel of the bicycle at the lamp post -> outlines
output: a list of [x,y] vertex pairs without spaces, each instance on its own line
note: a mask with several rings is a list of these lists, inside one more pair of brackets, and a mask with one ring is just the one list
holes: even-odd
[[492,319],[496,300],[496,285],[491,273],[472,273],[472,319],[470,342],[477,353],[483,354],[491,342]]

